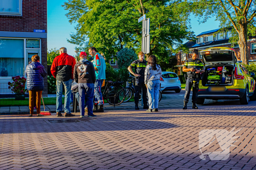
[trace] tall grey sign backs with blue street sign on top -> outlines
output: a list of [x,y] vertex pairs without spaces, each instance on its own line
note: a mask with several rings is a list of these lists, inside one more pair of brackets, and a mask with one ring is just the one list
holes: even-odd
[[150,34],[149,34],[149,26],[150,19],[146,19],[146,14],[138,19],[138,23],[142,21],[142,44],[141,51],[145,54],[150,53]]

